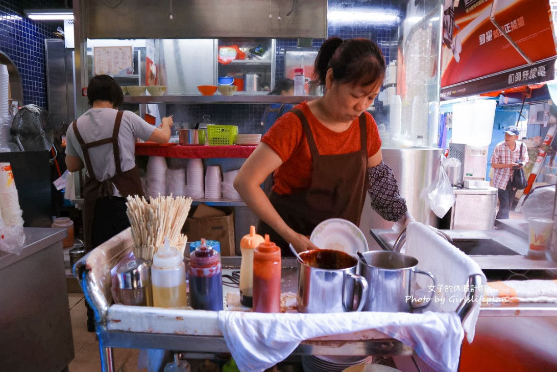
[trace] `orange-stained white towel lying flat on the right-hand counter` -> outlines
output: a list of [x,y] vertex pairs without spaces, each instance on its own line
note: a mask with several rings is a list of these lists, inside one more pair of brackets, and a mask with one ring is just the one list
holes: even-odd
[[557,281],[490,282],[485,297],[486,302],[557,302]]

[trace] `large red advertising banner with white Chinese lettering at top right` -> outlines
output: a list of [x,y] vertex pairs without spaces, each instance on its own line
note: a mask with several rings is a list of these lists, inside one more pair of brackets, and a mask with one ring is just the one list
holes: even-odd
[[[495,23],[534,64],[521,56]],[[441,52],[443,99],[551,80],[555,56],[547,0],[446,2]],[[486,76],[489,81],[481,79]]]

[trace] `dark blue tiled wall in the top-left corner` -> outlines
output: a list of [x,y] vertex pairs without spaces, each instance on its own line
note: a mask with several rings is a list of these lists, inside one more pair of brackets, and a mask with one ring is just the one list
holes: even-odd
[[62,23],[29,20],[23,9],[63,6],[63,1],[0,1],[0,51],[19,71],[25,104],[46,107],[45,38],[55,37]]

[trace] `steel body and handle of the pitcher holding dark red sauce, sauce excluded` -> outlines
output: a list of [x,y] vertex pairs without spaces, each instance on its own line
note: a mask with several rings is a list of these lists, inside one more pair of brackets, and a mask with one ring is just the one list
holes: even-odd
[[[338,252],[323,249],[325,251]],[[311,252],[311,251],[310,251]],[[343,252],[341,252],[343,253]],[[303,257],[304,253],[302,253]],[[365,298],[368,297],[367,281],[356,274],[358,260],[340,269],[316,268],[297,261],[298,293],[297,308],[303,313],[327,313],[361,311]],[[361,287],[361,294],[356,293],[356,282]],[[357,305],[355,305],[357,304]]]

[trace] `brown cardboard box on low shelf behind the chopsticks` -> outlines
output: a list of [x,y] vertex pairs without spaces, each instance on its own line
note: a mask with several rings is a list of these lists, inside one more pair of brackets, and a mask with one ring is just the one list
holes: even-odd
[[185,220],[183,233],[188,241],[217,240],[221,243],[221,255],[233,256],[234,253],[234,210],[216,209],[199,204],[192,217]]

